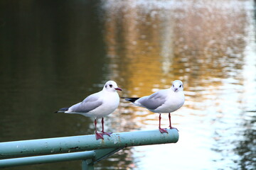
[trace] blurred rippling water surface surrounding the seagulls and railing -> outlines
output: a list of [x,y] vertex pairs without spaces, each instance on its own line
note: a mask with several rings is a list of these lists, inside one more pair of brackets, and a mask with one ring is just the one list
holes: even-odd
[[[129,147],[95,169],[255,169],[255,30],[253,0],[1,0],[0,142],[93,134],[91,118],[53,112],[110,79],[125,97],[180,79],[179,141]],[[107,131],[158,128],[158,114],[120,101]]]

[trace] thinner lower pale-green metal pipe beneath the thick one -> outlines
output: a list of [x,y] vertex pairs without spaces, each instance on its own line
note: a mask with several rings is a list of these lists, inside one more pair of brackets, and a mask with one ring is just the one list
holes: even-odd
[[93,159],[95,157],[94,151],[75,152],[67,154],[51,154],[36,157],[22,157],[13,159],[1,159],[0,168],[7,168],[11,166],[31,165],[31,164],[45,164],[51,162],[65,162],[82,159]]

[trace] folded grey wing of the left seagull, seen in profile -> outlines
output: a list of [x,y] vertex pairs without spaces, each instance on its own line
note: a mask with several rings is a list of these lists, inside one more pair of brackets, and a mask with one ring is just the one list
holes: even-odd
[[90,96],[87,96],[87,98],[85,98],[85,100],[83,100],[82,102],[71,106],[69,111],[87,113],[101,105],[102,101],[100,100],[100,98],[97,95],[92,94]]

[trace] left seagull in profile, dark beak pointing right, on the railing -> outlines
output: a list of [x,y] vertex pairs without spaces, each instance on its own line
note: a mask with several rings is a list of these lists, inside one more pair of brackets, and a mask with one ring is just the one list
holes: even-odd
[[[69,108],[60,108],[56,113],[76,113],[95,118],[96,140],[104,140],[103,135],[110,136],[112,132],[104,131],[104,117],[113,113],[119,106],[119,95],[122,91],[114,81],[107,81],[102,91],[87,96],[82,102],[76,103]],[[102,118],[102,133],[97,132],[97,118]]]

